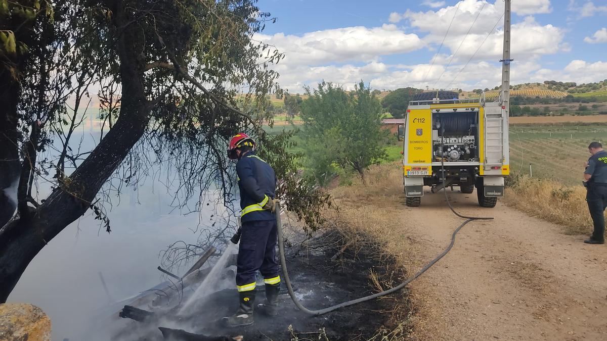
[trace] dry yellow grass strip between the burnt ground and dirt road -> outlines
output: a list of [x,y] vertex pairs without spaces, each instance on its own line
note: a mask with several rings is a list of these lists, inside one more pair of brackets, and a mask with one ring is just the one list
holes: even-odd
[[[333,219],[346,223],[342,226],[347,226],[348,230],[345,232],[348,235],[354,236],[356,232],[362,232],[378,241],[381,245],[379,257],[396,259],[393,271],[387,271],[383,276],[371,271],[371,285],[379,292],[404,280],[396,277],[402,277],[402,269],[416,268],[419,259],[415,256],[416,251],[408,248],[410,240],[404,222],[396,218],[401,216],[404,206],[400,164],[389,163],[371,167],[365,178],[366,186],[357,178],[351,186],[340,186],[331,191],[339,205],[339,217]],[[393,309],[382,313],[390,314],[390,322],[396,327],[379,329],[376,336],[370,340],[405,340],[415,337],[412,335],[412,326],[415,325],[416,318],[412,311],[418,310],[417,298],[409,295],[405,301],[390,295],[385,299],[393,300]]]

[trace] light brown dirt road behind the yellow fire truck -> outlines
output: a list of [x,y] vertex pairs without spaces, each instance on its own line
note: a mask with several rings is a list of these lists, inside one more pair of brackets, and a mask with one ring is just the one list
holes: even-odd
[[[586,245],[501,203],[481,209],[476,194],[448,193],[459,212],[495,220],[466,225],[455,248],[412,284],[420,339],[607,340],[607,245]],[[463,221],[442,192],[399,215],[412,263],[435,257]]]

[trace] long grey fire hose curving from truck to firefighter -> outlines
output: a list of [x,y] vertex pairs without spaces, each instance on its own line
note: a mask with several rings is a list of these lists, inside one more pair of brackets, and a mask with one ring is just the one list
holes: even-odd
[[[443,171],[443,184],[444,184],[446,181],[446,176],[445,176],[445,172],[444,172],[444,170],[445,170],[444,160],[441,161],[441,170]],[[293,286],[291,285],[291,279],[289,277],[289,272],[287,269],[287,259],[285,258],[285,243],[284,243],[284,238],[282,235],[282,225],[280,224],[280,203],[276,203],[276,225],[277,225],[277,230],[278,230],[278,249],[279,249],[279,256],[280,256],[280,266],[282,266],[282,275],[284,277],[283,280],[285,281],[285,284],[287,285],[287,290],[289,292],[289,295],[291,296],[291,299],[293,300],[293,303],[295,303],[295,305],[297,306],[297,308],[299,308],[299,310],[305,312],[306,314],[322,315],[322,314],[327,314],[327,312],[331,312],[331,311],[334,311],[339,308],[344,308],[346,306],[351,306],[351,305],[355,305],[358,303],[367,302],[369,300],[373,300],[378,297],[392,294],[393,292],[399,291],[402,288],[404,288],[405,286],[407,286],[409,283],[413,282],[413,280],[417,279],[428,269],[432,268],[432,266],[435,265],[436,262],[441,260],[441,258],[443,258],[447,253],[449,253],[449,251],[451,251],[451,249],[453,248],[453,245],[455,244],[455,236],[458,234],[459,230],[461,230],[464,226],[466,226],[467,223],[470,223],[470,221],[474,221],[474,220],[492,220],[493,219],[493,217],[469,217],[467,215],[459,214],[458,212],[455,211],[455,209],[453,209],[453,206],[449,201],[449,197],[447,196],[447,189],[444,188],[443,191],[445,194],[445,199],[447,200],[447,204],[449,205],[449,209],[451,209],[451,212],[453,212],[453,214],[457,215],[459,218],[466,219],[466,221],[461,223],[461,225],[459,225],[458,228],[456,228],[453,231],[453,234],[451,235],[451,242],[449,243],[449,246],[447,246],[447,248],[443,252],[441,252],[441,254],[436,256],[433,260],[431,260],[429,263],[427,263],[423,268],[419,269],[419,271],[416,272],[412,277],[409,277],[404,282],[402,282],[401,284],[399,284],[391,289],[387,289],[387,290],[378,292],[373,295],[368,295],[365,297],[361,297],[359,299],[350,300],[347,302],[339,303],[337,305],[333,305],[333,306],[330,306],[330,307],[327,307],[324,309],[318,309],[318,310],[308,309],[304,305],[302,305],[302,303],[299,302],[299,299],[297,299],[295,292],[293,291]]]

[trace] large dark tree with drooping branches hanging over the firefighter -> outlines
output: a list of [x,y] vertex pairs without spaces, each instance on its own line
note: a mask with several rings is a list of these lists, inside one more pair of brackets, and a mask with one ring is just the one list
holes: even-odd
[[[288,208],[320,221],[316,208],[328,197],[292,176],[289,136],[260,129],[271,119],[265,95],[280,90],[267,64],[282,54],[251,39],[273,20],[255,2],[75,0],[53,8],[0,0],[0,81],[8,84],[0,90],[0,186],[16,183],[8,198],[16,212],[0,217],[0,302],[33,257],[87,210],[110,231],[102,203],[122,188],[104,187],[110,177],[137,186],[146,167],[163,163],[186,199],[217,184],[231,204],[225,146],[241,129],[257,135],[285,181],[279,195]],[[93,83],[106,130],[92,150],[73,149],[80,100]],[[256,115],[234,109],[243,84]],[[76,98],[71,110],[67,96]],[[53,140],[63,147],[54,150]],[[48,197],[32,196],[34,178],[52,184]]]

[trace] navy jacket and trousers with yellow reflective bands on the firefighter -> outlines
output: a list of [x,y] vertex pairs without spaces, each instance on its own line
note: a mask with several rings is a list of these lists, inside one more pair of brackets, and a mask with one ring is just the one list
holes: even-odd
[[255,289],[257,270],[262,273],[266,284],[280,282],[276,263],[276,217],[263,209],[268,200],[276,197],[276,174],[254,152],[247,152],[240,158],[236,173],[242,209],[236,286],[243,292]]

